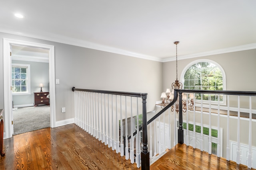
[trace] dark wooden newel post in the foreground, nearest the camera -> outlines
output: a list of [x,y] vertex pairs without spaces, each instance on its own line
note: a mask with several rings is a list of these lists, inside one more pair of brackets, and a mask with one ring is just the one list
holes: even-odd
[[149,152],[148,152],[148,125],[147,125],[147,109],[146,109],[146,100],[147,93],[142,93],[142,151],[141,151],[141,169],[149,170]]

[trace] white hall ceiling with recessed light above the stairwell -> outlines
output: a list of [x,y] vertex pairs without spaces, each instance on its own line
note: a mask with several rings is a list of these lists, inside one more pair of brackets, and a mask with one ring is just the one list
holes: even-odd
[[256,0],[1,0],[0,31],[171,61],[256,48]]

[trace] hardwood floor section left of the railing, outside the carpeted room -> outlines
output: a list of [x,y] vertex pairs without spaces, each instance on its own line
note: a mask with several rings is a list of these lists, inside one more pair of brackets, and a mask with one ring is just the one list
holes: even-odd
[[4,152],[0,170],[140,169],[74,124],[14,135]]

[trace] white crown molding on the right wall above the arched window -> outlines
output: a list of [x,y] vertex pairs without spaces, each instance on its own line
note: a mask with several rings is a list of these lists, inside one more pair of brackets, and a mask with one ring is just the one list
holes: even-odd
[[[178,56],[178,60],[191,59],[191,58],[196,58],[196,57],[204,57],[204,56],[209,56],[209,55],[224,54],[224,53],[231,53],[231,52],[244,51],[244,50],[250,50],[250,49],[256,49],[256,43],[240,45],[240,46],[230,47],[230,48],[225,48],[225,49],[206,51],[206,52],[195,53],[195,54],[190,54],[190,55],[180,55],[180,56]],[[168,61],[176,61],[176,56],[170,57],[170,58],[165,58],[162,60],[163,63],[168,62]]]

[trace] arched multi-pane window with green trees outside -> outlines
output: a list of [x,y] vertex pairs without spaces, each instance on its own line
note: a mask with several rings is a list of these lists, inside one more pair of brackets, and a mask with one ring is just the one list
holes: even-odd
[[[223,68],[211,60],[196,60],[188,64],[181,74],[184,89],[191,90],[226,90],[226,76]],[[208,101],[218,101],[218,95],[196,94],[195,98]],[[223,95],[220,95],[220,102],[224,102]]]

